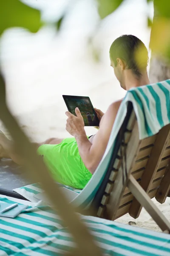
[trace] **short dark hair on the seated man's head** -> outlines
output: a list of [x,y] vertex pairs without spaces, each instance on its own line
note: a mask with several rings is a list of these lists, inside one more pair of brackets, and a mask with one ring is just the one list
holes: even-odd
[[[141,50],[141,55],[136,54]],[[140,54],[140,53],[139,53]],[[141,76],[141,71],[146,70],[148,64],[148,52],[144,43],[134,35],[122,35],[117,38],[110,48],[110,58],[115,67],[117,58],[125,61],[126,68],[133,71],[136,76]]]

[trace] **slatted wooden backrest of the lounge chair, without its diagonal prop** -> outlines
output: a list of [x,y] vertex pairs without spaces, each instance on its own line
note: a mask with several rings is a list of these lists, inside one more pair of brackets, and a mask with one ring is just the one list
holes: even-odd
[[150,198],[156,197],[161,203],[165,201],[170,190],[170,125],[161,128],[158,134],[139,140],[136,115],[132,111],[123,132],[124,141],[117,151],[97,213],[99,217],[112,220],[127,212],[137,218],[142,209],[127,187],[130,174]]

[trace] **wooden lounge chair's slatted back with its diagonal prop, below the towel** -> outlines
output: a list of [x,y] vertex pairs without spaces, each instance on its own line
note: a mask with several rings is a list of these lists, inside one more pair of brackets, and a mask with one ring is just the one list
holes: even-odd
[[135,112],[131,104],[128,108],[130,117],[119,131],[115,156],[96,196],[97,215],[115,220],[128,212],[138,218],[144,207],[161,230],[170,231],[170,223],[150,199],[162,204],[170,192],[170,124],[139,140]]

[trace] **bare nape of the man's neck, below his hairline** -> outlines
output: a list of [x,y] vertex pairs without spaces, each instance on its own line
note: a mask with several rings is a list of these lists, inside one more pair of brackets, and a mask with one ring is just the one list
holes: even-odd
[[125,76],[124,76],[124,84],[126,90],[130,90],[130,88],[133,87],[139,87],[142,85],[150,84],[149,78],[147,76],[147,71],[144,71],[142,73],[142,76],[138,79],[131,70],[126,70]]

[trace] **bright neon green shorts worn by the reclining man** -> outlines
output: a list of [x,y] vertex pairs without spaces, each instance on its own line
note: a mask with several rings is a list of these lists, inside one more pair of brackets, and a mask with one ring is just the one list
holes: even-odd
[[59,183],[83,189],[92,174],[85,167],[79,155],[75,138],[66,138],[58,145],[41,145],[37,153]]

